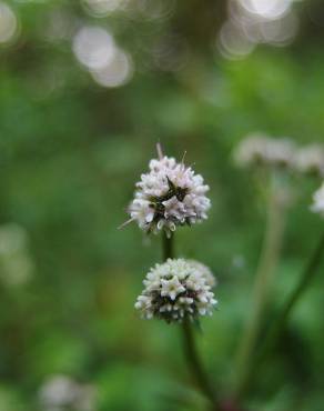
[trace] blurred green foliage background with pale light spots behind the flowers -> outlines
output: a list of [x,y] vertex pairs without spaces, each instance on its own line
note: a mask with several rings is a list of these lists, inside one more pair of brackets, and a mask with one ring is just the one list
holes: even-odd
[[[1,0],[1,411],[54,410],[39,392],[57,374],[95,388],[90,411],[204,409],[178,328],[133,309],[160,239],[117,230],[158,141],[211,187],[210,219],[178,230],[176,253],[219,279],[200,348],[231,392],[265,219],[232,150],[254,130],[323,140],[323,46],[321,0]],[[292,184],[273,310],[322,230],[320,181]],[[323,410],[323,285],[320,272],[251,409]]]

